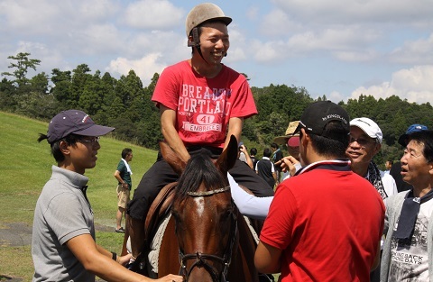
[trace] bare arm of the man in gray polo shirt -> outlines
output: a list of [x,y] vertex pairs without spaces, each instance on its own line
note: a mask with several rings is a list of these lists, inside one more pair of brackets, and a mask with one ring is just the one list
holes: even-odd
[[[124,268],[112,259],[112,253],[98,246],[90,234],[82,234],[66,242],[69,250],[88,271],[106,281],[152,281],[153,279]],[[123,257],[122,257],[123,258]],[[119,259],[118,259],[119,260]],[[125,259],[120,259],[125,260]],[[170,275],[160,281],[183,281],[182,277]]]

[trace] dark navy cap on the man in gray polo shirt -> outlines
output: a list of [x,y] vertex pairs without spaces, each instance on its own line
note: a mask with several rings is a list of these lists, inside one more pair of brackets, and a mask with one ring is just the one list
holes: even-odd
[[114,130],[114,127],[97,125],[88,114],[82,111],[68,110],[52,118],[48,125],[47,137],[51,144],[71,133],[83,136],[101,136]]

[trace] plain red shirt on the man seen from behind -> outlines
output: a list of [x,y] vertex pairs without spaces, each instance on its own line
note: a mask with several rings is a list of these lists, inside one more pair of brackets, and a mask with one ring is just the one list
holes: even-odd
[[383,220],[367,180],[318,166],[278,186],[260,240],[282,250],[282,282],[369,281]]

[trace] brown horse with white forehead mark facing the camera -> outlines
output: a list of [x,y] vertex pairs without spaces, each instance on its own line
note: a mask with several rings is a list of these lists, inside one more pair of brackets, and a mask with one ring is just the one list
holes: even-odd
[[168,144],[161,154],[179,175],[172,189],[170,221],[158,259],[158,277],[179,273],[185,281],[257,282],[256,243],[230,192],[227,171],[237,159],[237,141],[214,162],[206,154],[182,161]]

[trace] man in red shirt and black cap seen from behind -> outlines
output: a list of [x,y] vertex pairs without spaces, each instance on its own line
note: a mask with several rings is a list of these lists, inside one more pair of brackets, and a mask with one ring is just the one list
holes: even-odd
[[303,165],[281,182],[255,252],[256,268],[281,281],[369,281],[377,266],[384,205],[345,157],[349,116],[330,101],[300,118]]

